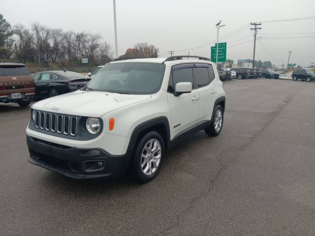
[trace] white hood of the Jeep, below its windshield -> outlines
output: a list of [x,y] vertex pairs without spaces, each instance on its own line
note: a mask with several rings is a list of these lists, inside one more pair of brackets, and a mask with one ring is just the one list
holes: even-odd
[[150,94],[119,94],[77,90],[36,102],[32,108],[68,115],[101,117],[113,110],[150,98]]

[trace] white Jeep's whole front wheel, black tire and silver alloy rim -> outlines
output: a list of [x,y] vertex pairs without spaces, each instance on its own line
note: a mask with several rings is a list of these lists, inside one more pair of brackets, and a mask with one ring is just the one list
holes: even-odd
[[156,131],[147,133],[138,143],[133,156],[134,177],[144,183],[154,179],[161,168],[163,157],[163,139]]

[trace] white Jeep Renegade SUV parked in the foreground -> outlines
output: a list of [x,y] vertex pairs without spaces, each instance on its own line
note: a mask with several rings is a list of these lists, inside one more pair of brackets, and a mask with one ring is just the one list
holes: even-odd
[[73,178],[157,176],[165,151],[220,134],[225,92],[207,58],[116,59],[83,89],[32,105],[29,162]]

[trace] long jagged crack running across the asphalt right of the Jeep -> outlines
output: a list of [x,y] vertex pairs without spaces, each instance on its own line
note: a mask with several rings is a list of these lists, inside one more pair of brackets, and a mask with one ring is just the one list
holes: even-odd
[[[204,192],[201,192],[199,195],[195,196],[194,198],[192,198],[189,202],[188,202],[188,207],[186,207],[183,211],[181,211],[180,213],[178,213],[176,215],[176,223],[172,224],[171,226],[165,228],[164,230],[158,232],[158,234],[156,234],[156,236],[158,235],[161,235],[163,234],[164,232],[176,227],[179,225],[180,223],[180,217],[182,215],[184,215],[186,212],[188,212],[192,207],[193,207],[193,204],[194,204],[194,201],[198,198],[201,198],[202,196],[206,195],[207,193],[209,193],[211,191],[211,189],[213,188],[214,186],[214,182],[217,180],[217,178],[220,176],[222,170],[227,167],[226,164],[222,163],[221,162],[221,159],[220,159],[220,156],[223,154],[223,152],[225,151],[228,151],[230,149],[234,149],[234,148],[243,148],[247,145],[249,145],[252,140],[259,134],[261,133],[267,126],[270,122],[273,121],[273,119],[284,109],[284,107],[292,100],[292,98],[295,96],[296,94],[294,95],[289,95],[289,96],[286,96],[285,99],[282,101],[283,104],[279,104],[277,107],[276,107],[276,111],[274,112],[271,112],[270,114],[272,114],[272,118],[270,120],[268,120],[266,123],[264,123],[263,127],[258,130],[254,135],[252,135],[251,138],[249,138],[249,141],[243,145],[240,145],[240,146],[235,146],[235,147],[231,147],[231,148],[226,148],[226,149],[223,149],[218,155],[216,155],[216,160],[217,162],[219,163],[219,166],[221,166],[219,168],[219,170],[217,171],[217,174],[210,180],[210,186],[209,188],[204,191]],[[205,229],[207,228],[207,225],[204,227],[203,231],[205,231]]]

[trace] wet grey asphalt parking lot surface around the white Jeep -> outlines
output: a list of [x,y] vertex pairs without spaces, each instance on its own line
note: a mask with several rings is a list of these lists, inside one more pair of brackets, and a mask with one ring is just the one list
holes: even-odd
[[315,83],[224,83],[220,136],[167,152],[156,179],[73,180],[27,162],[30,108],[0,104],[0,235],[315,235]]

